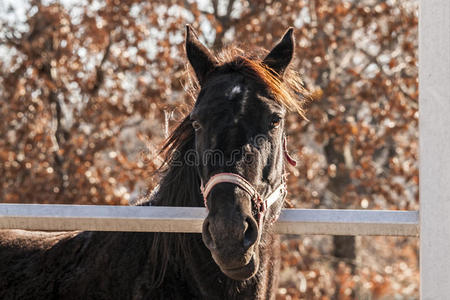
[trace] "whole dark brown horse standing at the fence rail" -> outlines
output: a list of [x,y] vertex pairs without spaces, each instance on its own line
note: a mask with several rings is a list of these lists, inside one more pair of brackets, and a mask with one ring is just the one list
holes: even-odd
[[289,68],[293,29],[271,51],[218,55],[187,25],[197,99],[163,146],[139,205],[203,207],[202,233],[0,231],[0,299],[273,299],[273,231],[286,196],[285,115],[307,97]]

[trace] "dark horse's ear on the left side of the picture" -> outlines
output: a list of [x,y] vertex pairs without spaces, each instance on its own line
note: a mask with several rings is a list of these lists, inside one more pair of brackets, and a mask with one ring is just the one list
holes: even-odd
[[206,75],[217,65],[211,52],[198,40],[190,25],[186,25],[186,55],[195,71],[198,82],[203,85]]

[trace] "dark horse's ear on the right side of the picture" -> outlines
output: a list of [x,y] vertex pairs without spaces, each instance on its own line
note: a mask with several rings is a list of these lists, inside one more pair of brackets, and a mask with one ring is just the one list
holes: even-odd
[[289,28],[284,34],[281,41],[273,47],[270,53],[264,58],[263,63],[277,72],[279,75],[283,75],[284,70],[292,60],[294,56],[294,29]]

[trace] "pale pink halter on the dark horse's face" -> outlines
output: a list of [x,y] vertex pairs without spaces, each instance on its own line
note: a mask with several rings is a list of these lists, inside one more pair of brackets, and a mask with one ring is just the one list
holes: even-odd
[[[289,155],[287,148],[286,148],[286,137],[283,137],[283,154],[286,161],[292,165],[296,166],[297,163],[295,160],[291,158]],[[257,219],[259,221],[259,225],[262,224],[263,217],[265,215],[265,212],[268,208],[272,206],[272,204],[275,203],[280,198],[286,197],[287,189],[286,189],[286,176],[283,175],[281,178],[281,183],[278,185],[278,187],[269,194],[265,199],[261,197],[261,195],[258,193],[258,191],[253,187],[253,185],[248,182],[244,177],[241,175],[235,174],[235,173],[218,173],[209,178],[208,182],[204,185],[203,180],[200,178],[201,185],[200,185],[200,191],[203,194],[203,202],[205,207],[208,209],[208,195],[213,189],[214,186],[216,186],[219,183],[231,183],[234,185],[237,185],[242,190],[244,190],[246,193],[250,195],[250,198],[253,203],[255,203],[255,206],[258,210]],[[278,215],[275,216],[271,222],[275,222],[278,219]]]

